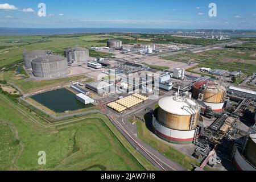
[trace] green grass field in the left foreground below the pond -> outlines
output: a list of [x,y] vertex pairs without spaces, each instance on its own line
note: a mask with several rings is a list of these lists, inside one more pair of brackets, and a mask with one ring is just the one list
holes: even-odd
[[[139,162],[119,142],[101,119],[83,121],[62,128],[43,129],[0,95],[1,119],[16,126],[20,143],[24,146],[16,167],[19,170],[143,170]],[[4,133],[5,127],[0,127]],[[9,149],[14,143],[6,130],[1,148]],[[2,137],[1,137],[2,141]],[[13,150],[12,150],[13,151]],[[46,166],[38,164],[38,152],[46,151]],[[2,151],[1,151],[2,152]],[[3,155],[6,169],[14,154]]]

